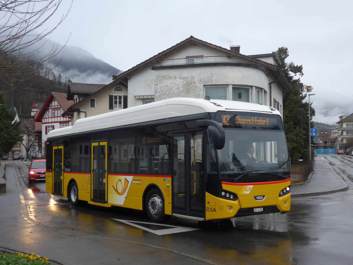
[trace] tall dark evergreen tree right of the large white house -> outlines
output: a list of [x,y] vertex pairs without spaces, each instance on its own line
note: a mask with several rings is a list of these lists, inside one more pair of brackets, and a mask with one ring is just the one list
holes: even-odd
[[[303,65],[286,63],[289,56],[287,47],[278,48],[276,53],[281,60],[279,67],[293,90],[283,93],[283,125],[289,155],[292,159],[298,159],[300,156],[309,159],[309,108],[308,102],[303,102],[306,94],[303,94],[303,83],[300,82],[300,77],[304,75]],[[315,116],[312,107],[310,116],[310,120]]]

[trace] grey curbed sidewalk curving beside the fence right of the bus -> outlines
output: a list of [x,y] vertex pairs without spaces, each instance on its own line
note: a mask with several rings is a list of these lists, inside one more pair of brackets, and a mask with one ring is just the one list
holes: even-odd
[[338,176],[326,160],[314,161],[314,172],[303,184],[291,185],[292,197],[315,196],[340,192],[348,189],[348,185]]

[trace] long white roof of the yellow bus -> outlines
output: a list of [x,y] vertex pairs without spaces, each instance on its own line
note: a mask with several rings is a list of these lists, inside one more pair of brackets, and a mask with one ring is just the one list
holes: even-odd
[[234,110],[280,115],[275,108],[248,102],[172,98],[78,119],[72,126],[49,131],[48,138],[205,112]]

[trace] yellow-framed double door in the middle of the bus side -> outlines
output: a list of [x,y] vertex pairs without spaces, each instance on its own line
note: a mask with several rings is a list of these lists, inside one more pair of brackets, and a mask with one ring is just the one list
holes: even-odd
[[107,202],[107,142],[91,143],[91,200]]

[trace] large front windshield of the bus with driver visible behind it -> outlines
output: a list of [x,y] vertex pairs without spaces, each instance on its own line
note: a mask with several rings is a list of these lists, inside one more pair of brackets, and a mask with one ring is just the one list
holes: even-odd
[[245,172],[289,176],[284,131],[225,128],[225,133],[225,146],[217,150],[221,178],[245,176]]

